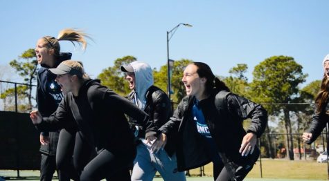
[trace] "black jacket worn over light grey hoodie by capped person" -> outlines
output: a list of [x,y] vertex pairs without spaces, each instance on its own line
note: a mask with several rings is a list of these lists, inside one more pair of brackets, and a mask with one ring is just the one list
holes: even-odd
[[[145,113],[148,113],[150,116],[150,120],[153,120],[154,122],[154,129],[157,130],[160,128],[163,124],[166,124],[168,122],[169,118],[172,116],[172,108],[170,104],[169,97],[166,93],[163,92],[160,88],[157,86],[150,86],[148,90],[146,91],[146,103],[144,111]],[[128,95],[128,99],[131,101],[134,99],[134,91],[132,91]],[[132,129],[133,133],[136,130],[135,126],[139,126],[139,135],[137,137],[145,138],[145,129],[143,126],[140,126],[136,120],[132,119],[130,117],[130,128]],[[172,156],[173,153],[175,153],[175,136],[170,135],[168,137],[169,141],[168,144],[166,144],[165,150],[167,151],[169,156]]]

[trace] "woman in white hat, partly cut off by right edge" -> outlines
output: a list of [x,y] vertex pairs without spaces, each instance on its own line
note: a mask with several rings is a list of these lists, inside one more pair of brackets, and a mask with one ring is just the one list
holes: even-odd
[[[324,57],[322,61],[322,66],[324,70],[323,79],[321,82],[320,91],[315,97],[315,109],[314,114],[312,116],[312,122],[310,124],[310,128],[308,131],[303,133],[303,140],[307,144],[311,144],[323,131],[323,128],[329,122],[329,102],[328,102],[328,95],[329,95],[329,54]],[[329,142],[328,142],[329,143]],[[327,150],[329,145],[327,143]]]

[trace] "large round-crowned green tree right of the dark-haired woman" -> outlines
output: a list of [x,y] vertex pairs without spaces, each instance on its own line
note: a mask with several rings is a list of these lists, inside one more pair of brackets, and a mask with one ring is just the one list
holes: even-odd
[[272,104],[265,105],[269,114],[283,113],[290,160],[294,160],[290,110],[278,103],[288,104],[298,97],[298,86],[305,82],[305,77],[308,76],[303,74],[302,69],[303,67],[297,64],[293,57],[269,57],[255,67],[254,79],[251,82],[251,94],[254,95],[256,102]]

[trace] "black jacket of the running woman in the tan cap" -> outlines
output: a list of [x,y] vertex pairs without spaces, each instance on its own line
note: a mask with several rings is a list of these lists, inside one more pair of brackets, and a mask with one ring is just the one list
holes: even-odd
[[67,93],[57,111],[51,117],[44,117],[37,128],[53,131],[77,125],[82,139],[91,148],[128,157],[134,155],[136,148],[125,114],[139,120],[147,128],[147,134],[154,135],[145,112],[97,80],[88,80],[80,87],[78,97]]

